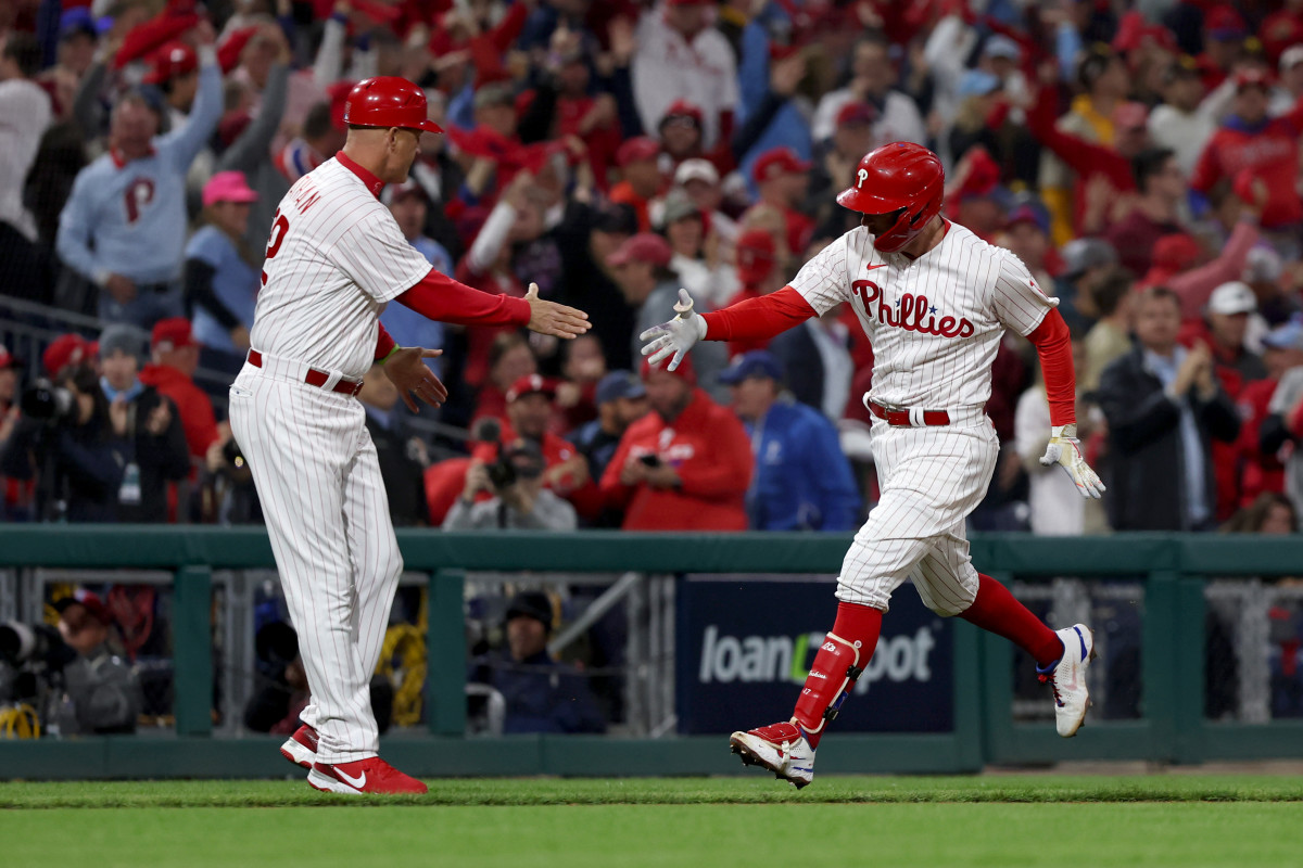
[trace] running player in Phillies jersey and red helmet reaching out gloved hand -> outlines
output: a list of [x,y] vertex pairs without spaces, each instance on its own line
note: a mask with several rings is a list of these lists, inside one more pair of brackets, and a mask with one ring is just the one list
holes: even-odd
[[[1054,631],[968,556],[964,519],[981,501],[999,444],[984,406],[1006,328],[1036,345],[1050,406],[1041,463],[1062,465],[1084,497],[1104,485],[1076,440],[1067,325],[1027,267],[941,216],[941,160],[894,142],[868,154],[839,204],[864,215],[779,292],[706,315],[680,292],[679,316],[648,329],[642,353],[671,370],[700,340],[778,334],[834,305],[851,305],[873,342],[873,453],[882,497],[855,535],[838,576],[837,621],[814,656],[790,721],[734,733],[748,765],[797,787],[814,777],[814,750],[873,656],[891,592],[907,578],[929,609],[1010,639],[1054,690],[1059,735],[1075,735],[1089,698],[1093,640],[1085,625]],[[672,358],[671,358],[672,357]]]

